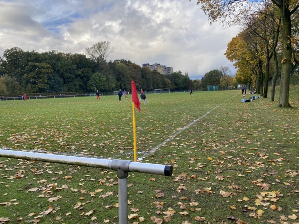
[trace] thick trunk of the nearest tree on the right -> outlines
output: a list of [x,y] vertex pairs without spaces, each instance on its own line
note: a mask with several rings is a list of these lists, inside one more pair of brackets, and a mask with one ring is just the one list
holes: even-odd
[[292,45],[291,45],[291,12],[288,0],[283,0],[280,6],[283,20],[283,59],[282,59],[282,75],[280,84],[279,107],[291,107],[289,104],[290,93],[290,77],[292,70]]

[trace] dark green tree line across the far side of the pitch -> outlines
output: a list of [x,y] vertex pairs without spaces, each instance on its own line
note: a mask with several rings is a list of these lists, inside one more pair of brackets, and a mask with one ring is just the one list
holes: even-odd
[[23,51],[19,47],[6,49],[0,57],[0,96],[23,93],[84,94],[95,92],[95,89],[106,94],[119,89],[131,92],[132,80],[139,90],[146,91],[165,88],[171,91],[206,90],[206,85],[219,85],[225,74],[213,70],[202,80],[190,80],[187,72],[163,75],[124,59],[107,62],[113,53],[108,41],[94,44],[85,53],[55,50],[39,53]]

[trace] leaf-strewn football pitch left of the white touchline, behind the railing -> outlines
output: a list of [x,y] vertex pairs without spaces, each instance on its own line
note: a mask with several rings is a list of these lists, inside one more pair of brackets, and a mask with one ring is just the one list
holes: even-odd
[[[223,96],[225,93],[225,96]],[[239,92],[147,94],[136,110],[138,156],[168,142],[209,112],[221,112]],[[118,96],[1,102],[2,147],[101,158],[132,159],[132,99]],[[133,157],[134,158],[134,157]]]

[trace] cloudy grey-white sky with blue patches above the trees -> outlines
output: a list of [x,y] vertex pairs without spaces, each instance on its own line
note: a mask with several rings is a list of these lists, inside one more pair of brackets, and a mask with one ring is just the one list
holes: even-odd
[[111,60],[159,63],[201,79],[220,66],[234,75],[224,53],[237,33],[210,25],[196,0],[0,0],[0,57],[12,47],[84,53],[109,41]]

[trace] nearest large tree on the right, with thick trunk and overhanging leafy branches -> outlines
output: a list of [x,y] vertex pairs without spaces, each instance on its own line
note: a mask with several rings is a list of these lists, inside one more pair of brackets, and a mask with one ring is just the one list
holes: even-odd
[[[234,24],[238,21],[240,13],[250,10],[250,7],[260,0],[197,0],[197,4],[201,4],[201,9],[208,14],[211,22],[218,20],[227,20],[229,24]],[[283,59],[281,73],[281,88],[279,97],[279,107],[291,107],[289,104],[290,92],[290,76],[292,69],[292,20],[291,16],[299,8],[298,0],[272,0],[272,2],[280,9],[282,18],[282,46]],[[240,9],[243,7],[245,9]]]

